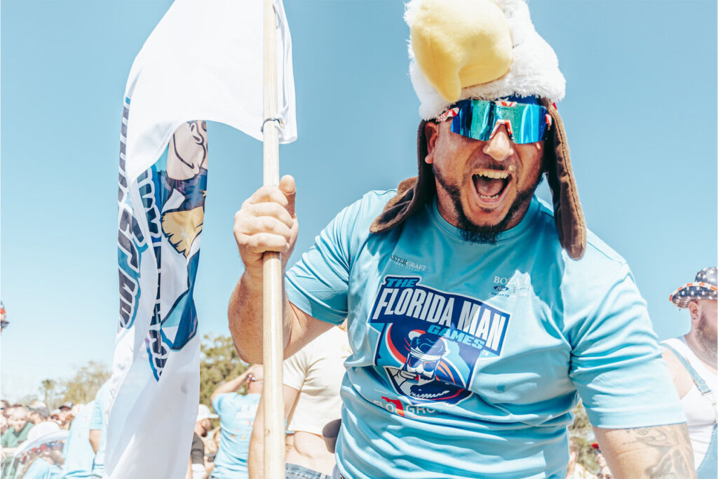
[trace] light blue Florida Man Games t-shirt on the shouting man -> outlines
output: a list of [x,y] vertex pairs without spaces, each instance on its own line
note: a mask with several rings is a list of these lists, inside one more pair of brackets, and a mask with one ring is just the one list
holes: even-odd
[[495,245],[435,202],[370,234],[396,190],[342,210],[286,274],[289,300],[349,318],[337,465],[347,478],[564,478],[577,393],[597,427],[684,422],[645,302],[592,233],[580,261],[533,198]]

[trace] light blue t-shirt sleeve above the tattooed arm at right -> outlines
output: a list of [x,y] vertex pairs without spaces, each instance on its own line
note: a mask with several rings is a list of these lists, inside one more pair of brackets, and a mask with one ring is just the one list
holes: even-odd
[[569,374],[595,427],[685,422],[645,301],[628,266],[569,334]]

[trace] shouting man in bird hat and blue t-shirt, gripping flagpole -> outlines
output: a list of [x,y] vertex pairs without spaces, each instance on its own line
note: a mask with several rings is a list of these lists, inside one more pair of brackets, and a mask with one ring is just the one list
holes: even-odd
[[[285,357],[348,317],[337,473],[564,478],[580,397],[616,477],[695,477],[645,301],[585,227],[565,81],[528,6],[412,0],[405,18],[419,175],[342,210],[284,283]],[[261,361],[262,254],[286,265],[295,195],[283,177],[235,215],[244,361]]]

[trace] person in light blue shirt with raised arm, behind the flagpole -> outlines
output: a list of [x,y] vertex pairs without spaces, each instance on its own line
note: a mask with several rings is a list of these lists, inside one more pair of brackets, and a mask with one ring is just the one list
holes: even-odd
[[[220,446],[215,456],[213,479],[248,478],[247,456],[254,417],[264,384],[264,370],[254,365],[240,376],[219,386],[211,396],[212,407],[220,417]],[[246,384],[247,394],[238,394]]]

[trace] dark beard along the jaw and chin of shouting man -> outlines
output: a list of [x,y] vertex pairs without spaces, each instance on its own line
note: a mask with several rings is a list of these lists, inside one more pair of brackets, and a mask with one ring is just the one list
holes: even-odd
[[480,226],[472,223],[466,213],[464,213],[464,207],[461,204],[461,187],[449,184],[449,182],[447,182],[447,180],[439,174],[436,168],[434,168],[434,177],[437,179],[437,182],[439,182],[439,185],[442,185],[444,190],[449,193],[449,197],[451,198],[452,203],[454,203],[454,210],[456,210],[457,221],[459,223],[457,228],[459,228],[462,240],[467,243],[490,244],[496,244],[496,237],[499,233],[506,231],[508,223],[513,220],[513,217],[516,215],[519,208],[521,208],[526,200],[533,196],[533,193],[536,192],[538,185],[541,185],[541,182],[544,181],[544,175],[538,175],[538,178],[536,178],[536,181],[533,182],[533,185],[526,188],[526,190],[518,192],[516,200],[513,200],[513,203],[511,203],[511,207],[503,217],[503,220],[500,220],[495,225]]

